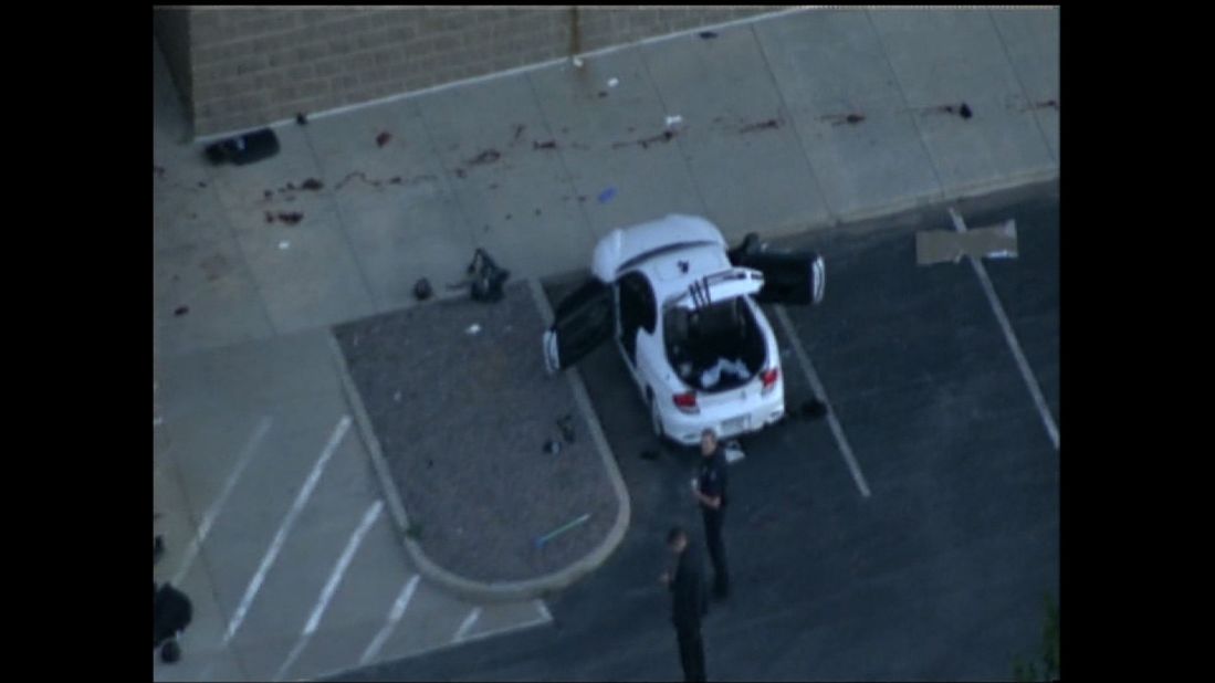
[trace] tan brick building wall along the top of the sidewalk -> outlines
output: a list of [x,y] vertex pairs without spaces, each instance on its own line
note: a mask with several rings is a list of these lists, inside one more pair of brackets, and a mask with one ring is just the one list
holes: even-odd
[[203,136],[779,9],[188,9],[175,80]]

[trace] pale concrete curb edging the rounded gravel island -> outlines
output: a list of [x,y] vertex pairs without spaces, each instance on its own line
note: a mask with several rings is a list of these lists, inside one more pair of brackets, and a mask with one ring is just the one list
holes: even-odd
[[[539,287],[539,282],[536,280],[529,280],[529,287],[536,306],[541,312],[541,317],[546,321],[550,321],[553,318],[553,311],[548,300],[544,299],[544,293]],[[407,534],[407,530],[409,529],[409,518],[405,512],[405,506],[401,502],[396,485],[392,482],[388,461],[384,459],[379,440],[375,438],[375,433],[372,429],[371,418],[367,416],[367,410],[364,408],[362,399],[355,388],[354,379],[350,377],[350,369],[346,367],[346,359],[341,354],[341,346],[338,344],[337,338],[333,337],[332,331],[329,332],[329,348],[333,350],[334,361],[338,366],[338,374],[341,378],[341,388],[346,394],[346,402],[350,405],[350,411],[354,414],[355,423],[358,425],[358,434],[372,458],[372,467],[379,479],[380,487],[384,490],[384,497],[388,501],[389,510],[392,513],[392,519],[396,521],[397,534],[400,534],[401,542],[405,546],[406,552],[409,554],[409,559],[413,560],[417,566],[418,572],[426,578],[443,586],[460,598],[470,602],[504,603],[541,598],[547,593],[569,587],[575,581],[598,569],[604,561],[608,560],[616,547],[620,546],[621,541],[625,540],[625,532],[628,530],[629,519],[632,517],[632,503],[628,497],[628,489],[625,486],[625,479],[620,474],[620,468],[616,465],[616,457],[611,452],[611,446],[608,445],[608,439],[603,434],[603,427],[599,424],[599,418],[595,416],[590,405],[590,399],[587,395],[586,385],[582,383],[582,377],[577,374],[575,368],[571,368],[566,371],[565,374],[569,378],[571,389],[573,389],[575,401],[578,403],[578,408],[586,416],[587,423],[590,427],[590,438],[594,440],[599,456],[604,461],[604,468],[608,470],[608,479],[611,481],[612,492],[616,495],[618,503],[616,520],[612,523],[612,527],[608,532],[608,536],[594,551],[584,555],[582,559],[575,561],[565,569],[539,576],[537,578],[529,578],[525,581],[482,582],[465,578],[453,571],[443,569],[426,557],[422,546]]]

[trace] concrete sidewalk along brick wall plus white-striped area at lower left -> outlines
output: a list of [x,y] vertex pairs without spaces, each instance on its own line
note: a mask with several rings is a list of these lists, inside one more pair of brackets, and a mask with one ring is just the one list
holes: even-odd
[[[361,447],[343,446],[350,452],[334,462],[347,469],[323,479],[310,503],[339,501],[343,524],[300,526],[307,534],[283,546],[299,561],[266,575],[250,626],[231,649],[211,653],[264,542],[326,444],[322,431],[344,414],[332,363],[313,355],[326,349],[318,339],[328,327],[414,305],[419,277],[441,297],[467,295],[445,286],[464,277],[476,247],[514,280],[542,278],[586,269],[595,239],[611,228],[667,213],[705,215],[730,241],[751,231],[775,237],[1058,174],[1057,10],[806,10],[716,34],[315,115],[277,129],[279,154],[248,166],[211,166],[186,140],[163,57],[154,55],[153,343],[168,378],[156,396],[164,422],[154,490],[158,512],[171,512],[164,530],[173,538],[196,534],[191,524],[197,527],[208,497],[221,489],[209,458],[234,461],[242,440],[258,434],[256,411],[270,414],[317,393],[315,406],[300,401],[273,427],[289,441],[259,465],[258,481],[272,484],[245,482],[241,490],[250,493],[234,493],[230,514],[254,506],[239,518],[258,524],[220,525],[215,543],[228,546],[208,541],[199,551],[208,566],[214,555],[222,569],[196,571],[187,582],[217,597],[204,600],[191,650],[210,661],[158,678],[276,674],[306,616],[277,619],[279,604],[293,605],[301,581],[310,594],[324,594],[343,541],[379,495],[368,487],[366,459],[356,457]],[[970,118],[956,113],[963,102]],[[668,128],[669,117],[679,123]],[[290,362],[293,354],[306,362]],[[239,368],[225,379],[233,388],[225,395],[261,402],[192,408],[215,393],[211,363]],[[283,468],[294,468],[293,476],[279,478]],[[343,490],[346,481],[357,482],[350,485],[357,501]],[[351,571],[363,563],[366,575],[385,585],[363,589],[366,582],[352,580],[351,594],[334,603],[335,622],[347,609],[366,622],[349,643],[326,634],[343,653],[310,649],[283,671],[333,671],[363,656],[384,621],[384,614],[367,621],[366,605],[386,608],[409,585],[407,574],[391,574],[408,565],[386,536],[375,542],[380,531]],[[324,551],[312,551],[316,535],[324,535]],[[238,565],[232,548],[243,553]],[[499,615],[425,586],[409,615],[452,622],[440,625],[441,638],[402,630],[377,656],[459,643],[482,628],[496,633],[499,621],[514,628],[537,614],[539,622],[549,619],[543,603],[507,605]]]

